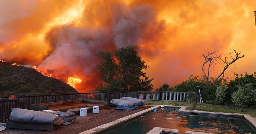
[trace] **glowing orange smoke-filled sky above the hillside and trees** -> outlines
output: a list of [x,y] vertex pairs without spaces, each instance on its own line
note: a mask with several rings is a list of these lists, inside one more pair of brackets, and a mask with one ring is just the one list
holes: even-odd
[[159,88],[201,76],[207,49],[235,48],[246,56],[226,71],[232,79],[256,71],[254,10],[255,0],[0,0],[0,59],[64,82],[78,77],[77,90],[88,92],[99,84],[100,50],[137,44]]

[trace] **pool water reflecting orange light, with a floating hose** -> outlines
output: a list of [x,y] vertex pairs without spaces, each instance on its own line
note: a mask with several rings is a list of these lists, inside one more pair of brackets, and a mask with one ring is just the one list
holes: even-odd
[[216,134],[256,134],[256,130],[243,118],[206,115],[183,115],[178,114],[178,109],[179,108],[159,108],[156,113],[150,112],[149,114],[128,121],[101,133],[146,134],[154,127],[161,127],[179,129],[179,133],[185,133],[186,131],[196,131]]

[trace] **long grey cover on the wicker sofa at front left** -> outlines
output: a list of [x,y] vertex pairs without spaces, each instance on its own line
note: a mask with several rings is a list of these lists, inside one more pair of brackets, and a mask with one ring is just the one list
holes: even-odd
[[28,124],[63,124],[63,119],[49,112],[39,112],[28,109],[12,108],[10,122],[28,123]]

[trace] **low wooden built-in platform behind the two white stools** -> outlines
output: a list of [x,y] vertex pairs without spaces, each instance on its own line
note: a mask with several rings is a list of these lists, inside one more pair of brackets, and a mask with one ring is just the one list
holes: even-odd
[[99,109],[104,109],[108,108],[108,105],[108,101],[104,100],[78,99],[51,103],[31,104],[30,110],[53,110],[65,112],[65,110],[70,110],[74,108],[92,108],[93,106],[99,106]]

